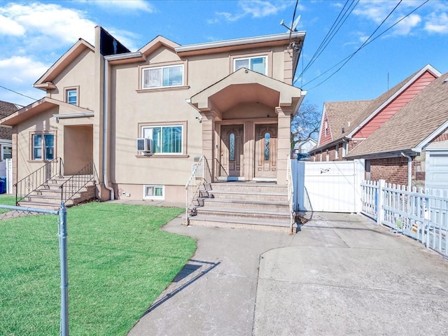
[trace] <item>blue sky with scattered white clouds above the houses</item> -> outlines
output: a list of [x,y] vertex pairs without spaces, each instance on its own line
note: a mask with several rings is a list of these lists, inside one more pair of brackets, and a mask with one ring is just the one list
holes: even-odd
[[41,99],[32,85],[78,38],[93,44],[96,25],[136,51],[158,35],[188,45],[286,33],[281,20],[299,15],[294,85],[319,110],[374,99],[426,64],[448,72],[446,0],[0,0],[0,100]]

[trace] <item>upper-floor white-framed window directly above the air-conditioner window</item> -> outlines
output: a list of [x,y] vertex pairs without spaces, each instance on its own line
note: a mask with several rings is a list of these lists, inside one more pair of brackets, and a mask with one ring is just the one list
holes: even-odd
[[145,68],[142,73],[144,89],[183,85],[183,64]]

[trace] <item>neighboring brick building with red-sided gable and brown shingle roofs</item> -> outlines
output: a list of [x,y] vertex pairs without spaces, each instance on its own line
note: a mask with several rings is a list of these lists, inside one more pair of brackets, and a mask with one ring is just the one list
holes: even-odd
[[366,179],[448,188],[447,77],[427,65],[372,101],[325,103],[311,160],[361,158]]

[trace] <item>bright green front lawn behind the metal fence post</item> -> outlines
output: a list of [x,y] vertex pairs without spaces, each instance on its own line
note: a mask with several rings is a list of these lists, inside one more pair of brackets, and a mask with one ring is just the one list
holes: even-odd
[[[194,239],[160,230],[182,211],[68,209],[71,335],[127,334],[195,251]],[[0,335],[58,335],[57,216],[0,221],[0,232]]]

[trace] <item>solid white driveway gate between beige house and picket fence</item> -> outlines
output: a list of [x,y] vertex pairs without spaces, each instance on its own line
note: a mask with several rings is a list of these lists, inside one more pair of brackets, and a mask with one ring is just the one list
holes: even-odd
[[295,209],[359,212],[364,160],[303,162],[293,160]]

